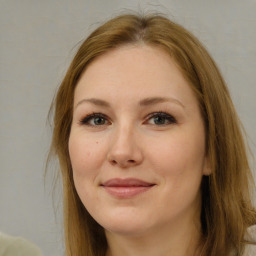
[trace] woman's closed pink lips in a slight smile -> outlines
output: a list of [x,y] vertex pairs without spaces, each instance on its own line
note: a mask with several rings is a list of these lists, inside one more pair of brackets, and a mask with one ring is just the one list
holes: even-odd
[[132,198],[150,190],[155,184],[139,179],[111,179],[101,186],[112,196],[117,198]]

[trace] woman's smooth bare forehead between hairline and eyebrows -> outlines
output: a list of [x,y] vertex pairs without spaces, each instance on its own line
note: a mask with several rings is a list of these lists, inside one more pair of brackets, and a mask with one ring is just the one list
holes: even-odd
[[195,100],[178,65],[164,50],[127,45],[88,65],[77,84],[74,103],[84,97],[121,98],[125,102],[153,96]]

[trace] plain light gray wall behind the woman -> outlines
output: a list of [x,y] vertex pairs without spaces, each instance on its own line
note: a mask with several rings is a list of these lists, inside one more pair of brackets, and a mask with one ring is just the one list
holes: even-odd
[[54,168],[44,185],[51,100],[78,43],[115,14],[140,9],[167,14],[205,44],[256,155],[256,0],[0,0],[0,230],[44,255],[63,255]]

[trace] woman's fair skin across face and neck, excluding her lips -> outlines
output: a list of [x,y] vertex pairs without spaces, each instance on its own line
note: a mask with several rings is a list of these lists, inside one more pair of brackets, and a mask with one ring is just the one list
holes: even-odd
[[[99,118],[85,119],[92,113]],[[209,174],[205,131],[192,89],[163,50],[129,45],[87,67],[75,90],[69,153],[78,195],[106,230],[108,255],[192,255]],[[154,186],[120,198],[102,186],[113,178]]]

